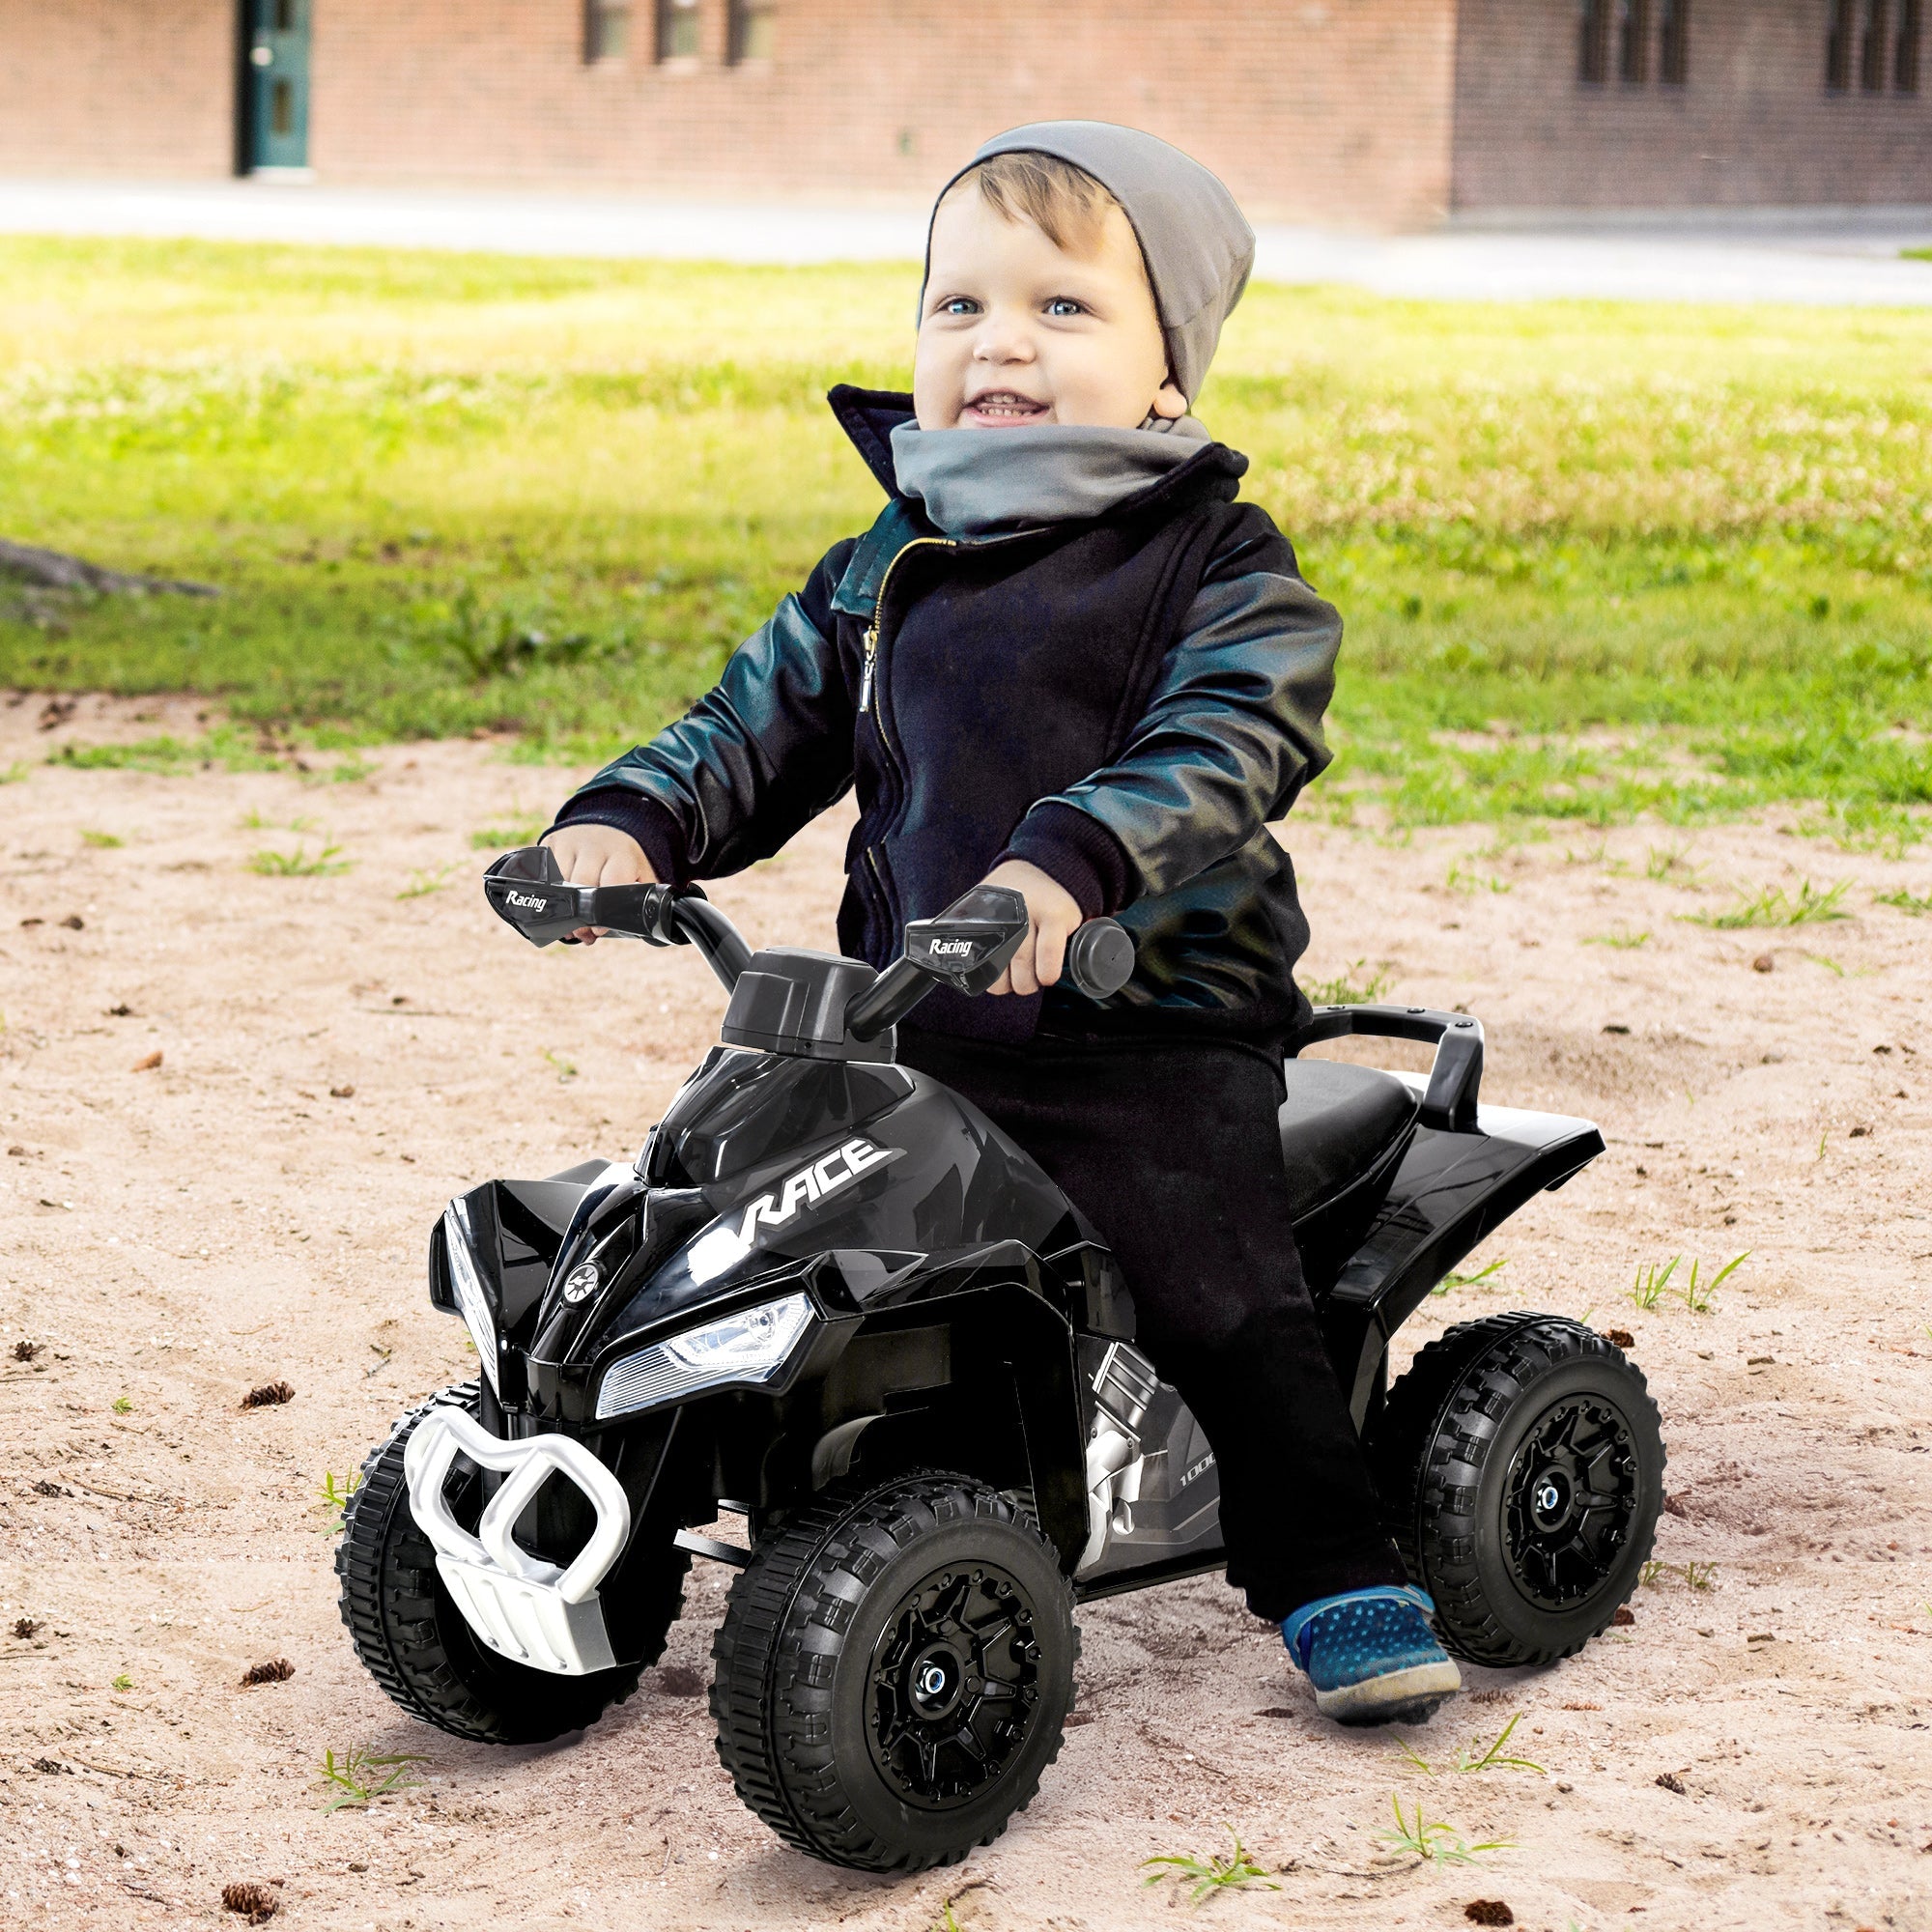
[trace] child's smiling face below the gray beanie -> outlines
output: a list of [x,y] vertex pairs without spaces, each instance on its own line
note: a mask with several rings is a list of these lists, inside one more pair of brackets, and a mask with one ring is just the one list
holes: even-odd
[[1186,413],[1126,216],[1109,205],[1080,242],[1063,249],[1009,220],[972,182],[941,201],[912,361],[920,429],[1138,429],[1150,412]]

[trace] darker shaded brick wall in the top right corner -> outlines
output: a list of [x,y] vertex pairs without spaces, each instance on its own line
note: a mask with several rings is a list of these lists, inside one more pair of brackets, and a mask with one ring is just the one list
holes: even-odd
[[[1611,15],[1615,10],[1609,10]],[[1853,8],[1861,15],[1862,8]],[[1578,81],[1578,0],[1461,0],[1457,209],[1932,201],[1932,44],[1918,93],[1826,89],[1830,0],[1692,0],[1689,77]],[[1899,6],[1888,8],[1895,29]],[[1926,10],[1932,41],[1932,8]]]

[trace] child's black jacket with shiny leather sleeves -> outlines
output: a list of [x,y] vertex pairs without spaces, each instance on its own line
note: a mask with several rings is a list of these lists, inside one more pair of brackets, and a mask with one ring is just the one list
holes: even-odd
[[896,495],[889,437],[910,398],[831,402],[893,500],[558,823],[618,825],[659,877],[711,879],[850,786],[846,952],[885,966],[906,920],[1001,858],[1134,931],[1111,1001],[941,991],[922,1026],[1277,1041],[1308,1010],[1291,972],[1308,923],[1265,827],[1327,765],[1341,620],[1267,514],[1235,500],[1246,458],[1204,444],[1105,518],[968,543]]

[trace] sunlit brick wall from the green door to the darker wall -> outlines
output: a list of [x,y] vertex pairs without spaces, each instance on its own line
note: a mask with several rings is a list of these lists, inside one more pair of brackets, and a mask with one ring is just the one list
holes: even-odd
[[775,58],[583,64],[582,0],[317,0],[336,180],[597,180],[918,199],[989,133],[1090,116],[1177,141],[1256,214],[1447,207],[1455,0],[781,0]]

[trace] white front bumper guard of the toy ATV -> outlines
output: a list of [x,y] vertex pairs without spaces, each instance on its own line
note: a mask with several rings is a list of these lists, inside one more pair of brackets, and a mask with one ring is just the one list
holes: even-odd
[[[458,1455],[497,1470],[504,1482],[471,1536],[442,1495]],[[630,1542],[624,1486],[568,1435],[504,1441],[462,1408],[425,1416],[402,1459],[410,1511],[437,1551],[437,1573],[477,1638],[498,1656],[558,1677],[616,1667],[597,1584]],[[566,1476],[597,1511],[591,1540],[568,1569],[524,1549],[512,1530],[551,1476]]]

